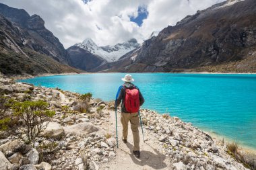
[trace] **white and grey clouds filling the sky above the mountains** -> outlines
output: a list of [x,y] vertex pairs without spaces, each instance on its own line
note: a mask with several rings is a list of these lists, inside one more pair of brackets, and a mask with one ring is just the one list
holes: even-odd
[[[11,7],[38,14],[45,26],[68,48],[85,38],[98,45],[113,45],[136,38],[146,40],[153,31],[173,26],[186,15],[224,0],[0,0]],[[131,22],[143,7],[148,16],[141,26]]]

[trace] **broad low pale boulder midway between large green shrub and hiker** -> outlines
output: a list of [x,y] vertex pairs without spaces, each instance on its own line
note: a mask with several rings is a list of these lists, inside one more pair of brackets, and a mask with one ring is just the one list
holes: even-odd
[[64,127],[65,134],[90,134],[98,131],[98,128],[92,123],[83,122]]

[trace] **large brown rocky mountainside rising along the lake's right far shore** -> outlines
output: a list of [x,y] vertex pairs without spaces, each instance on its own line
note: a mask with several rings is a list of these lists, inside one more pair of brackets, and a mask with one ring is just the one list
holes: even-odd
[[164,28],[126,56],[127,65],[121,58],[96,71],[256,72],[255,18],[256,1],[228,0]]

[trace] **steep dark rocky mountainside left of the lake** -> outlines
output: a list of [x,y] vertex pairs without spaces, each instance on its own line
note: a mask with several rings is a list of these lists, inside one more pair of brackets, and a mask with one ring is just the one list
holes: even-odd
[[4,74],[80,72],[67,66],[69,54],[40,16],[1,3],[0,61]]

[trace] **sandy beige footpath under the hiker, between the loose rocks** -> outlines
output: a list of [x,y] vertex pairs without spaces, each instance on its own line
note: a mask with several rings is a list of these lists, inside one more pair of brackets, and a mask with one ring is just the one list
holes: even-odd
[[[111,160],[110,163],[105,163],[100,169],[170,169],[170,163],[166,159],[165,155],[158,151],[158,145],[156,138],[151,138],[148,135],[147,130],[144,128],[145,142],[143,142],[143,136],[141,127],[139,126],[139,138],[141,157],[137,159],[133,155],[133,134],[131,132],[130,124],[128,131],[127,144],[123,143],[122,138],[122,124],[120,122],[120,111],[117,113],[118,119],[118,136],[119,136],[119,148],[116,148],[117,157]],[[115,135],[115,112],[110,112],[110,129],[111,133]]]

